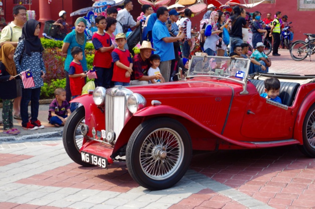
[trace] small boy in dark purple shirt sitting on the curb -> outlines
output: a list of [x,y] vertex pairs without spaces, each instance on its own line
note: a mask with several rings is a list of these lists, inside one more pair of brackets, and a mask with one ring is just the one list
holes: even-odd
[[49,105],[48,120],[50,124],[56,127],[65,125],[67,117],[70,116],[70,104],[66,100],[66,90],[57,88],[55,90],[55,99]]

